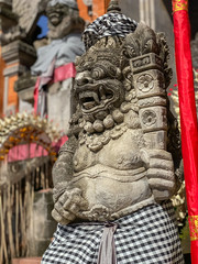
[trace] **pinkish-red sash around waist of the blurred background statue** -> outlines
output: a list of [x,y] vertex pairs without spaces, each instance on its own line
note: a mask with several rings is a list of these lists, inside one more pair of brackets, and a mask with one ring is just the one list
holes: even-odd
[[74,63],[69,63],[58,68],[55,68],[52,77],[47,77],[47,78],[42,76],[37,77],[37,80],[34,87],[34,112],[36,113],[36,110],[37,110],[38,87],[41,81],[44,84],[48,84],[48,82],[53,84],[53,82],[62,81],[68,78],[75,78],[75,76],[76,76],[76,68],[74,66]]

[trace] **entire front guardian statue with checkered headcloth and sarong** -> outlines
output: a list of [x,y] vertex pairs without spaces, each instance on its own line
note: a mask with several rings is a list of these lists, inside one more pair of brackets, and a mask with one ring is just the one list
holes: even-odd
[[166,97],[165,37],[111,1],[84,42],[78,106],[53,169],[59,224],[42,263],[58,263],[55,252],[67,264],[184,263],[168,200],[179,161],[168,140],[177,128]]

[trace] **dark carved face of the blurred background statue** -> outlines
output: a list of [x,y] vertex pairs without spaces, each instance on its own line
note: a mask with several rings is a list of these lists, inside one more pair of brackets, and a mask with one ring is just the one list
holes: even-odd
[[50,22],[56,26],[65,16],[69,16],[68,7],[65,4],[56,3],[55,6],[48,6],[46,13]]

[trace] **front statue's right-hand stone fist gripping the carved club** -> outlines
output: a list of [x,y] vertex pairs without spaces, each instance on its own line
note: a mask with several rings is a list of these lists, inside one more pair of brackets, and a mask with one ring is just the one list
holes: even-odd
[[141,155],[155,200],[170,198],[176,186],[172,154],[164,150],[144,148],[141,150]]

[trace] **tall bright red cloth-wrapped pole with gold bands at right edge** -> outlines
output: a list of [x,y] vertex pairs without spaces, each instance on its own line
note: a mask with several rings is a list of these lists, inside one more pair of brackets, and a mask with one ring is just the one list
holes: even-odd
[[[177,0],[173,0],[173,4],[176,2]],[[183,4],[185,6],[186,2],[185,0]],[[180,4],[179,0],[178,3]],[[186,9],[174,11],[175,57],[180,109],[182,150],[190,226],[191,263],[198,264],[198,127],[190,53],[190,25]]]

